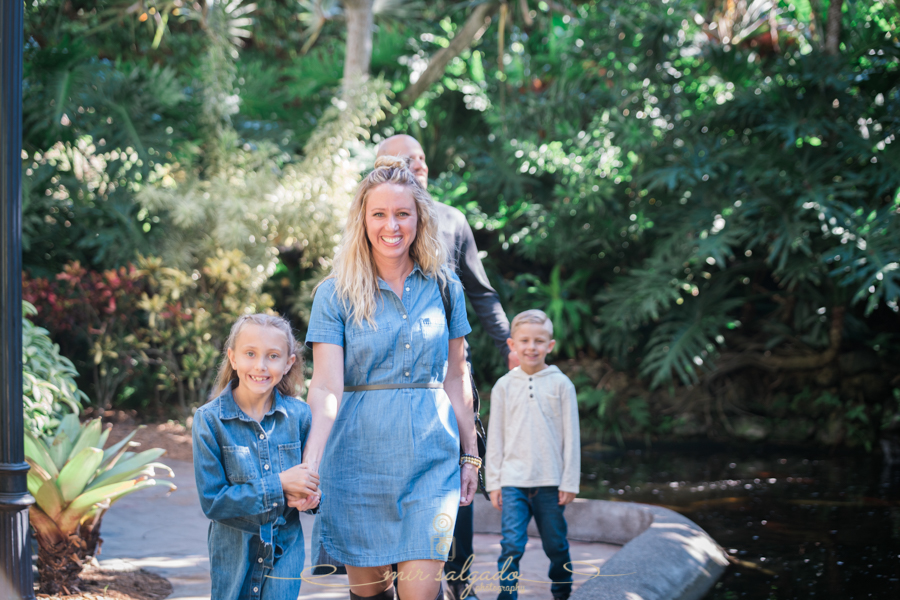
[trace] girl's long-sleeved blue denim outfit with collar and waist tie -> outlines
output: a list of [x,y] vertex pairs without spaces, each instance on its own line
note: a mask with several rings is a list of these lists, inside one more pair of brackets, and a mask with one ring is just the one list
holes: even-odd
[[235,404],[231,386],[194,415],[194,477],[212,520],[207,543],[216,600],[300,593],[303,531],[278,474],[300,464],[311,420],[309,406],[276,390],[257,423]]

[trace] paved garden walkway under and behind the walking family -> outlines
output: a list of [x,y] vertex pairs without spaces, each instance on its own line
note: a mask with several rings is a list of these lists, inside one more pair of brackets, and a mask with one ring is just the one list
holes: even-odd
[[[178,600],[208,600],[210,593],[209,560],[206,550],[208,521],[200,510],[197,488],[194,485],[190,462],[167,460],[175,471],[178,490],[166,497],[161,488],[137,492],[117,502],[103,518],[103,549],[100,564],[106,568],[144,568],[167,578],[174,588],[169,598]],[[309,532],[313,517],[303,515],[303,530],[309,556]],[[605,544],[570,542],[572,560],[601,565],[618,549]],[[496,574],[496,557],[500,554],[500,536],[475,535],[476,562],[473,574],[482,578]],[[307,559],[308,565],[309,559]],[[522,560],[522,578],[546,580],[549,561],[541,550],[540,540],[529,540]],[[585,577],[575,577],[578,582]],[[332,575],[304,583],[302,600],[332,600],[347,598],[346,576]],[[497,590],[485,581],[476,584],[481,600],[492,600]],[[329,587],[329,586],[337,587]],[[480,591],[478,588],[481,588]],[[520,596],[550,598],[549,584],[522,584]]]

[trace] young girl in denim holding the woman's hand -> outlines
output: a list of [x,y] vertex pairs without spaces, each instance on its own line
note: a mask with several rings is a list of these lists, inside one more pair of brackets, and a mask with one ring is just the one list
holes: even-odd
[[211,398],[194,415],[194,477],[209,524],[216,600],[300,593],[303,531],[285,494],[318,503],[319,478],[300,464],[309,407],[298,343],[281,317],[244,315],[231,328]]

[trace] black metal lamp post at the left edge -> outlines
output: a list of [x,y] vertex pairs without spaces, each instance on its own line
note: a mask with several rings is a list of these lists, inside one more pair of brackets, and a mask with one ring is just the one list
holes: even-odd
[[22,0],[0,0],[0,588],[34,598],[22,421]]

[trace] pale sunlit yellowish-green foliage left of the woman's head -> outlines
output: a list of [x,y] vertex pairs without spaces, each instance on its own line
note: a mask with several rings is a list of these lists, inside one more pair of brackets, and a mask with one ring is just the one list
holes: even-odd
[[385,102],[380,81],[358,90],[350,106],[335,102],[296,162],[261,142],[229,151],[202,176],[181,165],[160,169],[137,200],[166,215],[162,258],[190,269],[219,250],[239,250],[266,275],[275,271],[279,246],[301,249],[305,268],[330,260],[360,170],[353,154]]

